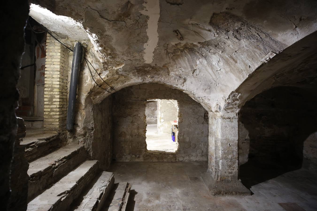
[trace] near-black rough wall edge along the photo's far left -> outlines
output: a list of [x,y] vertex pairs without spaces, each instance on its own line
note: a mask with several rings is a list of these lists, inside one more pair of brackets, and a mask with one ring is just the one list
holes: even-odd
[[[6,51],[0,53],[0,154],[2,156],[0,208],[6,210],[10,203],[10,172],[17,130],[15,108],[19,93],[16,84],[20,77],[19,69],[24,52],[24,27],[29,8],[27,1],[21,1],[18,4],[14,1],[4,2],[2,8],[0,22],[3,30],[0,38],[3,40],[2,47]],[[14,13],[12,8],[14,8]]]

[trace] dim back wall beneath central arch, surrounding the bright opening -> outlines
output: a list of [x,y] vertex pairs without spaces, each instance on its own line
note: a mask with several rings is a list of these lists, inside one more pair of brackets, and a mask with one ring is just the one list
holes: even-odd
[[[126,94],[126,92],[129,94]],[[131,93],[136,94],[135,96],[132,96]],[[174,99],[178,101],[179,112],[182,114],[179,126],[181,125],[180,127],[182,127],[182,129],[179,130],[180,141],[178,141],[178,143],[180,147],[178,147],[179,150],[176,153],[150,153],[146,150],[144,131],[146,125],[146,102],[129,101],[126,100],[127,98],[133,100],[143,100],[143,98]],[[116,156],[116,159],[119,161],[207,160],[208,122],[204,120],[206,110],[200,103],[194,101],[190,96],[178,89],[172,89],[161,84],[138,83],[121,88],[114,97],[108,95],[100,103],[92,103],[92,101],[90,103],[91,110],[89,112],[89,118],[93,121],[90,126],[92,130],[86,142],[86,147],[90,152],[91,157],[93,159],[98,159],[101,165],[104,164],[105,168],[111,161],[112,154],[110,153],[112,153],[112,151],[114,154],[118,154],[116,152],[122,151],[121,154]],[[105,121],[108,121],[108,119],[113,122],[112,128],[107,127],[108,122]],[[119,123],[117,123],[118,121]],[[126,121],[129,123],[126,124]],[[131,127],[133,128],[131,129]],[[188,127],[191,127],[191,130],[194,132],[190,132],[188,129],[185,129]],[[113,137],[108,137],[108,133],[112,133]],[[113,143],[122,142],[122,144],[120,145],[120,149],[117,149],[115,148],[115,145],[113,145],[113,148],[112,146],[101,146],[100,141],[103,141],[104,143],[111,143],[112,141]],[[124,149],[126,143],[128,144],[128,148]],[[135,144],[138,146],[134,147]],[[115,151],[115,149],[117,150]],[[106,153],[109,153],[106,156],[107,158],[105,158],[106,160],[104,160],[105,154],[102,154],[103,152],[100,152],[100,150],[107,151]],[[126,153],[124,153],[125,151]]]

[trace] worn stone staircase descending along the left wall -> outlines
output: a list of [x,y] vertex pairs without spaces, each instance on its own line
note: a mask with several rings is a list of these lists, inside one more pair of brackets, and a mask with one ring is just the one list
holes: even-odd
[[98,160],[87,160],[83,145],[63,146],[56,134],[42,136],[21,142],[29,162],[27,210],[126,209],[129,183],[115,184],[112,172],[101,171]]

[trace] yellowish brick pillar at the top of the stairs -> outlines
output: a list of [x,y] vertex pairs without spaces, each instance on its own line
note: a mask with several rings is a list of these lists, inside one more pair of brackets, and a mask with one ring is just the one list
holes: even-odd
[[44,89],[44,132],[59,133],[67,115],[68,50],[47,34]]

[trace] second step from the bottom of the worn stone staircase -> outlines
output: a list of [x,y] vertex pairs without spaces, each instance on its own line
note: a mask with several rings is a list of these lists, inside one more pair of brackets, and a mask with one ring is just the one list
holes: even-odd
[[106,201],[109,193],[112,190],[114,177],[112,172],[102,171],[98,175],[93,184],[83,193],[82,200],[79,203],[74,203],[71,210],[74,211],[99,211]]

